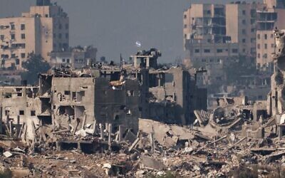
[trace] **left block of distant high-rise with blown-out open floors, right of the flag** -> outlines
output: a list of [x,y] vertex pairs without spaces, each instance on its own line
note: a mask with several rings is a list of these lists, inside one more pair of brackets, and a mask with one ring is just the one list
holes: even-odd
[[184,12],[183,33],[185,63],[190,61],[194,67],[239,55],[239,46],[227,36],[222,4],[192,4]]

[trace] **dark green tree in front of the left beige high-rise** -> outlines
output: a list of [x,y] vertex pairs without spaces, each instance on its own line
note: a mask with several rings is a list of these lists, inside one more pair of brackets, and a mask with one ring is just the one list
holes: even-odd
[[30,54],[28,60],[22,63],[22,67],[26,72],[21,73],[22,80],[27,80],[28,84],[35,84],[38,81],[39,73],[46,73],[51,66],[44,61],[41,55]]

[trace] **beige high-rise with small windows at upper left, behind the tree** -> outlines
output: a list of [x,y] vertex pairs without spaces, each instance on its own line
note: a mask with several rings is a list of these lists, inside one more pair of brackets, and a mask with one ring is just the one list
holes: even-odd
[[60,6],[46,1],[31,6],[21,17],[0,19],[0,46],[2,67],[21,68],[28,53],[40,54],[48,60],[49,52],[68,49],[68,16]]

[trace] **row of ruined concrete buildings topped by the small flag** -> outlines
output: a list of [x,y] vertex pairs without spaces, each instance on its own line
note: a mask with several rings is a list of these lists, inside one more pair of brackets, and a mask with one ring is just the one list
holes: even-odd
[[132,56],[133,64],[53,68],[39,74],[38,86],[1,87],[2,132],[34,145],[104,130],[123,137],[138,132],[140,117],[190,125],[194,110],[207,110],[207,90],[187,70],[158,68],[160,56],[152,48]]

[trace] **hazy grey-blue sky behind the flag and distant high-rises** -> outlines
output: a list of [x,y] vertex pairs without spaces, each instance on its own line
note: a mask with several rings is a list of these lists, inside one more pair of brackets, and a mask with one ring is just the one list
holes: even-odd
[[[19,16],[36,0],[0,0],[0,17]],[[118,61],[138,49],[158,48],[160,63],[183,58],[183,11],[191,3],[227,0],[58,0],[70,17],[70,45],[98,48],[98,58]],[[230,1],[227,1],[230,2]],[[142,43],[142,48],[135,46]]]

